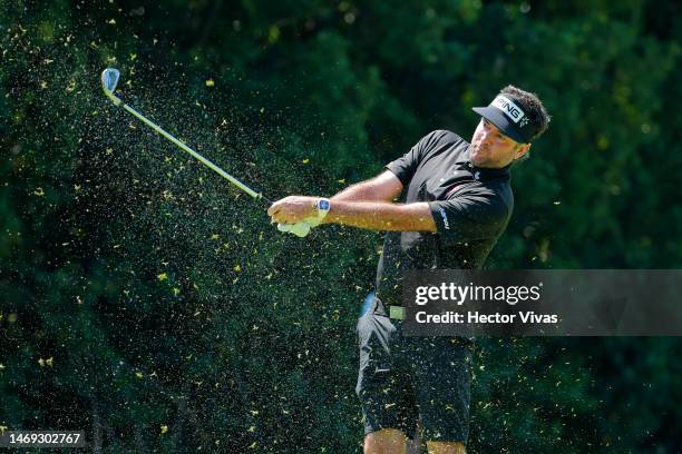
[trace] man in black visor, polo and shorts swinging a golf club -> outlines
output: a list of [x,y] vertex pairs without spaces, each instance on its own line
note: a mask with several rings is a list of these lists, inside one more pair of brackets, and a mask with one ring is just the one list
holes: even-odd
[[512,216],[510,167],[549,122],[537,96],[513,86],[474,111],[481,118],[470,142],[432,131],[386,171],[331,199],[292,196],[267,210],[285,225],[388,230],[376,297],[358,323],[364,453],[402,454],[418,426],[430,454],[466,451],[470,340],[403,336],[401,275],[484,265]]

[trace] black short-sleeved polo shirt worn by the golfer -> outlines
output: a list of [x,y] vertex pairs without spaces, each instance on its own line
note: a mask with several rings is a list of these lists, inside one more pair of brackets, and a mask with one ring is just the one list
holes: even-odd
[[377,269],[377,297],[401,305],[400,278],[408,269],[480,268],[514,208],[509,167],[478,168],[469,144],[437,130],[386,166],[403,189],[400,204],[428,201],[436,233],[389,231]]

